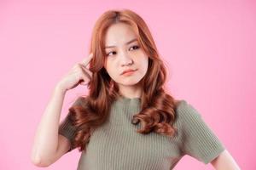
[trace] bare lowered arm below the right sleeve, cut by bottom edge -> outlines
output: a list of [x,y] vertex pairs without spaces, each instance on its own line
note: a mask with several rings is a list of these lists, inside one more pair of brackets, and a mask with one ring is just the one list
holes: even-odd
[[211,164],[217,170],[240,170],[228,150],[221,152],[218,157],[211,161]]

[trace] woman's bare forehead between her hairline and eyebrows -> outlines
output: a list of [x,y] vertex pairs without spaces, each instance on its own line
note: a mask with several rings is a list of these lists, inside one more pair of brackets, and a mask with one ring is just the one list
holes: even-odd
[[117,23],[108,27],[105,35],[105,44],[106,46],[123,45],[125,42],[136,37],[137,35],[130,25]]

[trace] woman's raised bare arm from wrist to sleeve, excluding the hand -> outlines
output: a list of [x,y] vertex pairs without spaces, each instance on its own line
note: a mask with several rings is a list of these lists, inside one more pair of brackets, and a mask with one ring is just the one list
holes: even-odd
[[[69,141],[58,134],[61,108],[66,91],[56,86],[49,100],[32,146],[32,163],[38,167],[48,167],[69,149]],[[58,150],[60,143],[61,148]]]

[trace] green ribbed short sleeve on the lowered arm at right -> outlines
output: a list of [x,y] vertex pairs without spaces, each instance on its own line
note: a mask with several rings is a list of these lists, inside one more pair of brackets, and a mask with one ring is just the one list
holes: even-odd
[[192,105],[182,100],[177,111],[182,124],[184,154],[207,164],[224,151],[224,144],[207,126],[201,114]]

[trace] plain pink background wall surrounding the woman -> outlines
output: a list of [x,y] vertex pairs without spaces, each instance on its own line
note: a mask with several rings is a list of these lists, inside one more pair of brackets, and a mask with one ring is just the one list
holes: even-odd
[[[110,8],[130,8],[143,17],[169,69],[172,94],[201,112],[241,169],[255,169],[256,4],[102,2],[1,1],[0,169],[39,169],[30,153],[51,91],[87,56],[92,27]],[[67,92],[61,119],[84,93],[82,86]],[[73,150],[45,169],[75,169],[79,156]],[[175,169],[213,168],[184,156]]]

